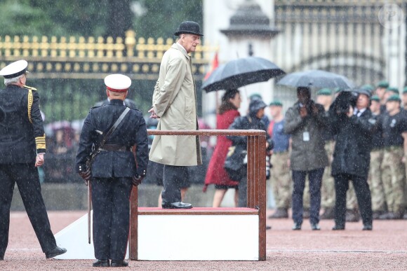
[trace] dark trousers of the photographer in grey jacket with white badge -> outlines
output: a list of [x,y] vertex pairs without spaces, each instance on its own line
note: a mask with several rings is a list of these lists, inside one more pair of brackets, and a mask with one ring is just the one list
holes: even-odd
[[310,209],[309,222],[319,223],[319,210],[321,209],[321,181],[323,168],[307,171],[293,170],[293,221],[302,224],[302,199],[305,187],[305,177],[309,176]]

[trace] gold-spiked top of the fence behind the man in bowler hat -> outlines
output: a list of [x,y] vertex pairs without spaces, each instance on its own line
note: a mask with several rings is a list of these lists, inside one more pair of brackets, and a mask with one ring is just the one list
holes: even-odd
[[[25,59],[32,78],[101,78],[124,73],[133,79],[156,80],[159,63],[175,40],[137,37],[133,30],[116,39],[84,36],[0,36],[0,68]],[[197,79],[206,72],[215,46],[199,46],[192,54]]]

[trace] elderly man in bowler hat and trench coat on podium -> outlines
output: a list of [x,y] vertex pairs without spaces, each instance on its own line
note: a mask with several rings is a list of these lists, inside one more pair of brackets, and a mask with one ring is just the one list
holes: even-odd
[[[164,53],[159,80],[154,88],[151,118],[159,118],[156,130],[198,130],[196,89],[191,56],[203,36],[196,22],[182,22],[175,32],[177,43]],[[164,164],[164,209],[189,209],[181,201],[180,183],[188,178],[187,166],[201,165],[201,147],[197,136],[155,136],[149,160]]]

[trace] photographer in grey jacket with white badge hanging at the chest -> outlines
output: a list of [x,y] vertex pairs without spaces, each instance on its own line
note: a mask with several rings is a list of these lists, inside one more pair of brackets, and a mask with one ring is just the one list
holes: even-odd
[[297,89],[298,102],[286,112],[284,132],[291,134],[291,169],[293,170],[293,230],[301,230],[302,197],[305,177],[309,176],[311,208],[309,222],[312,230],[319,228],[319,209],[321,208],[321,181],[323,170],[328,165],[324,148],[323,130],[327,129],[328,116],[321,104],[311,99],[309,88]]

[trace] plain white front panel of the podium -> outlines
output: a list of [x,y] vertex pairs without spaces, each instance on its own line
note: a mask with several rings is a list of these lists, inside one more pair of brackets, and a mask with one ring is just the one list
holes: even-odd
[[258,216],[138,216],[138,260],[258,258]]

